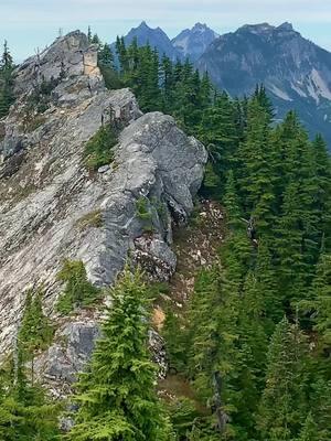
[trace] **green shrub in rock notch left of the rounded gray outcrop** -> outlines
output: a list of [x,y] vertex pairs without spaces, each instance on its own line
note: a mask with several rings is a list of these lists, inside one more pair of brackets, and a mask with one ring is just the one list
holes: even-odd
[[84,163],[87,169],[97,170],[99,166],[111,163],[113,148],[117,142],[117,135],[110,125],[100,127],[85,146]]

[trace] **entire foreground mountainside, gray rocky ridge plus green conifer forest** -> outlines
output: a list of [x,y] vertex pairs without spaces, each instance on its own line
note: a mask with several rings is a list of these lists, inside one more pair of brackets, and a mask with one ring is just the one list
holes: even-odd
[[[331,168],[322,136],[311,141],[293,111],[275,125],[264,86],[232,99],[189,61],[160,61],[122,39],[117,69],[109,46],[94,42],[70,34],[18,71],[8,51],[2,60],[7,111],[7,92],[19,98],[0,121],[1,299],[25,306],[2,357],[1,437],[330,440]],[[38,107],[23,122],[30,96]],[[36,186],[28,194],[25,174]],[[35,263],[26,260],[6,283],[29,252],[43,268],[39,244],[53,250],[46,280],[31,283]],[[109,290],[118,252],[127,266],[122,258]],[[85,338],[84,325],[97,321],[100,333],[95,326]],[[157,390],[151,356],[163,367]],[[54,364],[61,357],[66,365]],[[85,370],[74,385],[70,363]]]

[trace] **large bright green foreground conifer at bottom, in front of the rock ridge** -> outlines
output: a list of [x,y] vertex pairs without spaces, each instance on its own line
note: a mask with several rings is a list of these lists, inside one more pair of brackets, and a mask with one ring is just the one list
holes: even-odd
[[110,294],[103,336],[76,386],[76,424],[65,439],[168,441],[169,424],[147,348],[147,291],[139,271],[132,276],[126,270]]

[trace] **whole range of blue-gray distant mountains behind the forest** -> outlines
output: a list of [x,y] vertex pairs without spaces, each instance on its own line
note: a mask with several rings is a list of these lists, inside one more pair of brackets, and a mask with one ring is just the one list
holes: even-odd
[[[331,144],[331,54],[290,23],[244,25],[221,36],[196,23],[170,42],[159,28],[153,30],[143,22],[125,36],[125,43],[130,44],[134,37],[138,45],[149,43],[160,56],[166,53],[173,62],[188,57],[233,98],[252,95],[256,84],[263,83],[276,121],[295,109],[311,138],[322,132]],[[111,47],[115,50],[115,44]]]

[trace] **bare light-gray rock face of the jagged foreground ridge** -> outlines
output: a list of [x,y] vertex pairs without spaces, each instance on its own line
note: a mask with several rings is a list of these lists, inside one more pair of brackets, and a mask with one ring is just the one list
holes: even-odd
[[[175,268],[171,225],[185,223],[190,215],[206,151],[171,117],[142,116],[130,90],[105,89],[94,53],[75,32],[41,54],[38,75],[60,79],[45,111],[30,115],[28,122],[35,57],[19,68],[20,98],[3,123],[0,142],[1,354],[11,348],[28,288],[44,286],[45,311],[53,314],[64,258],[83,260],[96,286],[111,283],[128,255],[147,254],[152,277],[163,280]],[[84,146],[102,122],[108,123],[110,106],[127,127],[114,163],[89,173],[82,163]],[[141,201],[148,222],[138,209]],[[93,214],[102,225],[88,224]],[[49,362],[39,362],[42,370],[70,380],[92,351],[95,326],[95,319],[84,326],[79,318],[68,321],[61,329],[70,346],[55,343]]]

